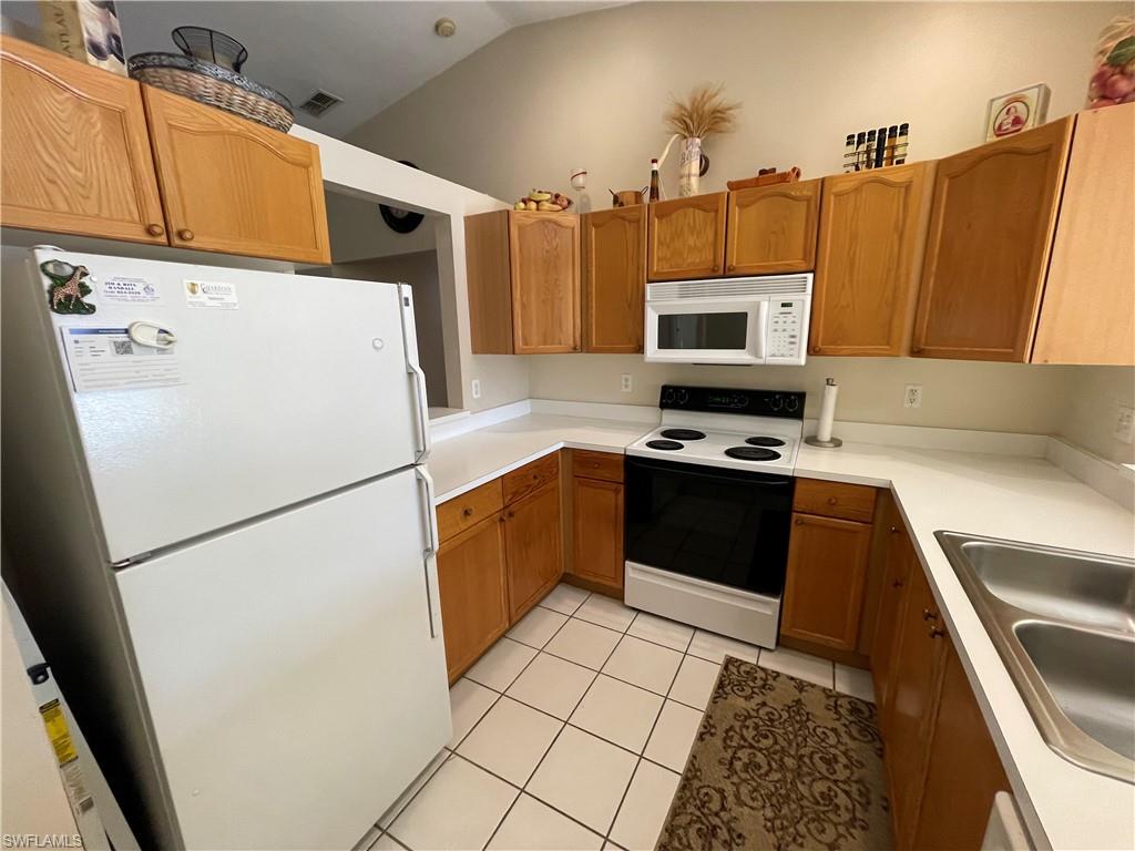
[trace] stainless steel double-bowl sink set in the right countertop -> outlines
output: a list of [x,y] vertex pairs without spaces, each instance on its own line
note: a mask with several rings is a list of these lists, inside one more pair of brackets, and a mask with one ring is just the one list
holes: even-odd
[[1135,561],[935,537],[1049,747],[1135,783]]

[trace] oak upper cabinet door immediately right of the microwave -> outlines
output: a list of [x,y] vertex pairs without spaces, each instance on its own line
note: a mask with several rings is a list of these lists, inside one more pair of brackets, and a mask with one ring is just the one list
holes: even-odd
[[812,354],[907,353],[933,163],[824,178]]

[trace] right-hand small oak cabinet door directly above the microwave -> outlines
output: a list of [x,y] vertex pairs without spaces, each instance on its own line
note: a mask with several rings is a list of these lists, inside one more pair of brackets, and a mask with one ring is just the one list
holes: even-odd
[[815,269],[822,183],[804,180],[730,192],[725,273]]

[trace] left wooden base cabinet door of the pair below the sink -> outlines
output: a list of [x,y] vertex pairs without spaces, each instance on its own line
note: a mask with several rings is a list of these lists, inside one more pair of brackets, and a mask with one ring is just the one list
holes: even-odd
[[910,571],[910,590],[900,614],[899,639],[891,671],[890,724],[884,739],[896,837],[910,848],[931,725],[945,655],[944,631],[934,596],[920,568]]

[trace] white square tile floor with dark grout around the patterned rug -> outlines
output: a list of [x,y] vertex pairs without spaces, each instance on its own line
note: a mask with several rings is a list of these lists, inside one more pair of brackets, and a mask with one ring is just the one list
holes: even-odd
[[725,655],[874,699],[865,671],[560,585],[454,683],[453,739],[360,848],[653,849]]

